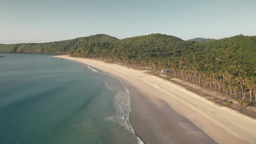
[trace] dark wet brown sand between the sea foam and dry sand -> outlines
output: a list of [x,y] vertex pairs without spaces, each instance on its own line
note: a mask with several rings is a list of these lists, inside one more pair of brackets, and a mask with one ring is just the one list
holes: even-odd
[[135,132],[147,144],[217,144],[209,135],[165,101],[154,105],[128,82],[123,82],[131,96],[130,122]]

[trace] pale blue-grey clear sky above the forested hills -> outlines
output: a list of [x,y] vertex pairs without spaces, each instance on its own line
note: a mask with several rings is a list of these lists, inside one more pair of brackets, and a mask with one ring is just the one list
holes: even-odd
[[94,34],[181,39],[256,35],[256,0],[0,0],[0,43]]

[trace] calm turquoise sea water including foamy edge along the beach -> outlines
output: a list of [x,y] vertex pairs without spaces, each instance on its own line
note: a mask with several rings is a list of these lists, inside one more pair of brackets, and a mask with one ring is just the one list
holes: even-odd
[[138,143],[119,80],[50,54],[0,56],[0,144]]

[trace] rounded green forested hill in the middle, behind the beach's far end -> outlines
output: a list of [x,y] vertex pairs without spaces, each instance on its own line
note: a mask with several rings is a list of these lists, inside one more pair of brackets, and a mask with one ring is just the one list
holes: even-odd
[[147,61],[151,58],[180,55],[184,48],[189,49],[193,43],[174,36],[151,34],[121,39],[114,43],[95,43],[69,51],[72,56],[101,57],[125,62]]

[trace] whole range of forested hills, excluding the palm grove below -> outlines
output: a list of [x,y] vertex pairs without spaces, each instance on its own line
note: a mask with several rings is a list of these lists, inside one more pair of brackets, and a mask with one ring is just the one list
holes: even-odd
[[[184,41],[175,36],[150,34],[117,39],[105,34],[50,43],[0,45],[0,52],[67,52],[72,56],[125,61],[140,65],[166,66],[169,61],[190,59],[254,66],[256,36],[233,36],[207,43]],[[166,61],[166,62],[162,62]],[[185,61],[184,61],[185,62]],[[158,66],[159,67],[159,66]]]

